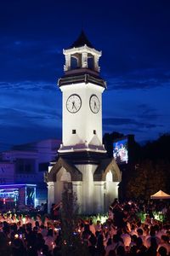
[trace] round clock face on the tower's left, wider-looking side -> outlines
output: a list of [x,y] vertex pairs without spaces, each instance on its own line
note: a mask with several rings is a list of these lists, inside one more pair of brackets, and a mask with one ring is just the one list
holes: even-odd
[[66,101],[66,108],[71,113],[77,113],[81,106],[82,100],[77,94],[72,94]]

